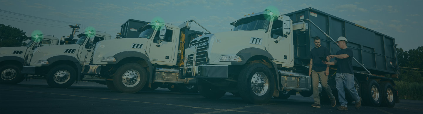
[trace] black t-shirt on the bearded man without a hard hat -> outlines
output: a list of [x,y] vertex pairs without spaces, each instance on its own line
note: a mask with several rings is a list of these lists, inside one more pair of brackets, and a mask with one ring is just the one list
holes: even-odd
[[319,57],[324,57],[330,55],[329,49],[324,46],[320,46],[319,48],[314,47],[310,51],[310,58],[313,59],[313,66],[312,69],[316,72],[326,71],[326,64],[323,64]]

